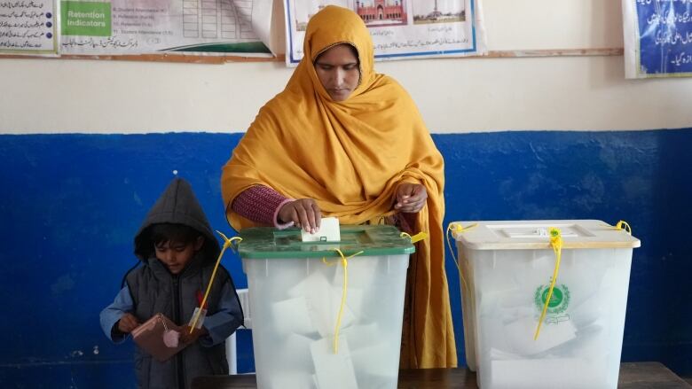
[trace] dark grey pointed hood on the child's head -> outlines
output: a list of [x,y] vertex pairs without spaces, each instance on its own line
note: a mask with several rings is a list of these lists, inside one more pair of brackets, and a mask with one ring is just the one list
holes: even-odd
[[205,261],[216,261],[221,247],[214,237],[207,215],[194,196],[192,185],[184,179],[176,177],[169,183],[139,227],[135,235],[135,255],[141,261],[147,261],[154,256],[150,227],[159,223],[184,224],[199,231],[204,237],[204,244],[200,250],[202,258]]

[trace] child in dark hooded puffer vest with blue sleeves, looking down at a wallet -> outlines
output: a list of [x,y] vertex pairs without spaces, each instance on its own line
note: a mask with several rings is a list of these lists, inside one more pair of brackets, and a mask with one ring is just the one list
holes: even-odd
[[228,271],[219,266],[206,303],[201,329],[186,324],[199,307],[220,247],[192,186],[174,179],[145,217],[135,236],[141,266],[125,276],[114,302],[100,315],[101,328],[114,343],[161,313],[184,326],[180,342],[191,342],[169,360],[158,362],[136,347],[135,372],[142,389],[186,389],[194,377],[228,374],[225,339],[243,323],[240,300]]

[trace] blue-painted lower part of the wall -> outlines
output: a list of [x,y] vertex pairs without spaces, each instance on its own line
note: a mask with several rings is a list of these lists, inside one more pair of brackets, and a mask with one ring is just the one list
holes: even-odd
[[[220,167],[241,134],[0,136],[0,383],[132,387],[132,346],[113,346],[98,312],[135,263],[132,236],[177,169],[210,222],[224,222]],[[447,220],[624,219],[634,252],[624,361],[692,374],[692,128],[638,132],[436,135]],[[445,222],[445,223],[446,223]],[[239,258],[224,258],[246,287]],[[459,279],[451,262],[460,362]],[[9,314],[9,315],[8,315]],[[240,370],[252,370],[247,336]]]

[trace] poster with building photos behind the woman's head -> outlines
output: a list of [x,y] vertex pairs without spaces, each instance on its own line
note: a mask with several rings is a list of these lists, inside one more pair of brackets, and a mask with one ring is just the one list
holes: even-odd
[[305,27],[326,5],[358,13],[373,36],[376,60],[459,57],[485,51],[476,0],[286,0],[286,63],[303,58]]

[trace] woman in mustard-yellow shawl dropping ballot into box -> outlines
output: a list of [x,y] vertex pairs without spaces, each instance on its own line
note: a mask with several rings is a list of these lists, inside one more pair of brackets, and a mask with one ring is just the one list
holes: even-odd
[[224,166],[235,230],[319,227],[395,219],[426,231],[408,269],[402,368],[457,364],[444,274],[444,161],[413,100],[374,72],[373,42],[358,15],[327,6],[308,23],[303,60]]

